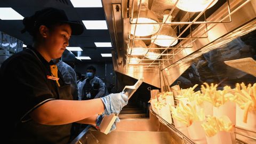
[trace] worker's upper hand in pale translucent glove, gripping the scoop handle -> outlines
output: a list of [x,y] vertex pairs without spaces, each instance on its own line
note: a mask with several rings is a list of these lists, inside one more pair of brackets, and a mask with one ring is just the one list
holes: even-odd
[[100,98],[105,105],[103,114],[119,114],[122,108],[128,103],[128,96],[122,93],[111,93],[105,97]]

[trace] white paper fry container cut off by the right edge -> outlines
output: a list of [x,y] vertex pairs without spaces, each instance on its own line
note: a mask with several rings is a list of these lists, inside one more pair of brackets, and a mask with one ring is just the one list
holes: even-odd
[[247,123],[243,122],[244,110],[236,104],[236,126],[256,132],[256,110],[249,110]]

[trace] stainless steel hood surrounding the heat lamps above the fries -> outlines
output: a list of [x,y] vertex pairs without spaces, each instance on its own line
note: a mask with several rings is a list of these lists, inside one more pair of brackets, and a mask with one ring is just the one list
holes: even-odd
[[[195,52],[206,52],[220,43],[228,42],[221,41],[221,38],[231,37],[231,32],[239,27],[255,27],[253,22],[245,24],[256,18],[256,0],[219,0],[211,9],[197,13],[179,10],[177,3],[171,0],[148,1],[148,8],[157,15],[159,25],[171,25],[177,32],[179,42],[174,46],[158,47],[161,50],[159,59],[150,60],[140,55],[141,60],[134,65],[130,62],[131,55],[127,54],[130,44],[137,39],[146,44],[155,41],[150,37],[131,35],[131,19],[137,17],[134,11],[138,11],[141,4],[137,0],[102,0],[114,47],[115,71],[137,79],[143,76],[146,83],[162,88],[172,84],[190,66],[189,60],[196,57]],[[171,10],[169,15],[172,16],[168,24],[163,21],[166,9]],[[154,49],[150,46],[149,50]]]

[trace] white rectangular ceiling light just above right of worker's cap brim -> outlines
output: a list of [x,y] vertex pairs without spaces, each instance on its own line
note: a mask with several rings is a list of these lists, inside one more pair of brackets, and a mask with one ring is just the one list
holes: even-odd
[[86,29],[108,29],[106,20],[83,20],[83,23]]

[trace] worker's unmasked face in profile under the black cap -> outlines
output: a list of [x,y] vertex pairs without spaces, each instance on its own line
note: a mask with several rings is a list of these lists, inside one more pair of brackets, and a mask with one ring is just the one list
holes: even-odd
[[53,26],[47,29],[47,35],[44,37],[44,46],[51,59],[60,58],[71,36],[71,28],[68,24]]

